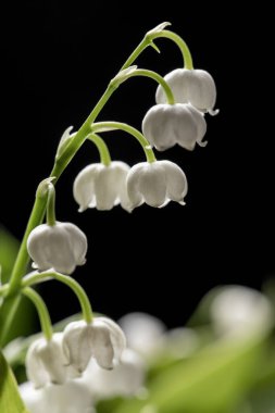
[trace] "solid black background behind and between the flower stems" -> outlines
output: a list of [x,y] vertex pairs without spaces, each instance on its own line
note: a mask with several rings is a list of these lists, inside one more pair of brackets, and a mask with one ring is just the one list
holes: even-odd
[[[232,2],[150,3],[153,11],[147,4],[23,1],[2,10],[0,221],[22,237],[36,186],[51,170],[63,130],[80,126],[145,33],[172,22],[189,45],[195,66],[215,78],[221,109],[218,116],[207,116],[207,148],[160,153],[185,170],[187,205],[78,214],[74,177],[98,161],[87,143],[60,179],[57,210],[59,221],[76,223],[88,236],[88,261],[75,277],[97,311],[113,317],[148,311],[174,326],[213,286],[260,288],[274,274],[272,27],[263,3],[245,11]],[[140,67],[164,75],[180,66],[172,42],[159,40],[158,46],[161,55],[146,50]],[[99,118],[140,127],[154,104],[154,90],[149,79],[130,79]],[[114,159],[130,165],[143,161],[130,137],[104,136]],[[78,310],[66,287],[51,283],[43,293],[54,320]]]

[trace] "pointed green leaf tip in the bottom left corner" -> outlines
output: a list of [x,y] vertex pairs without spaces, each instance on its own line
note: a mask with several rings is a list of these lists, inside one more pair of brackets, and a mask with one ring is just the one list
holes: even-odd
[[9,364],[0,352],[0,412],[28,413]]

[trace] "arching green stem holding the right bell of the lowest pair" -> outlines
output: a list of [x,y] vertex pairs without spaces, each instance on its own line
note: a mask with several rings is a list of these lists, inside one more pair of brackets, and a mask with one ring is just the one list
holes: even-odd
[[35,274],[27,275],[22,280],[22,287],[26,288],[26,287],[33,286],[34,284],[49,280],[51,278],[54,278],[59,280],[60,283],[65,284],[74,291],[74,293],[76,295],[79,301],[84,320],[88,324],[91,323],[93,315],[92,315],[89,298],[87,293],[85,292],[84,288],[74,278],[67,275],[53,272],[53,271],[48,271],[46,273],[35,273]]

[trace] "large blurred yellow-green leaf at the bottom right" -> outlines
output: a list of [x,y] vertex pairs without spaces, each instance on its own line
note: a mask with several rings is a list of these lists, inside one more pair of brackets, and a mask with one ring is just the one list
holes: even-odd
[[125,401],[114,413],[229,413],[257,380],[265,339],[217,341],[164,370],[146,401]]

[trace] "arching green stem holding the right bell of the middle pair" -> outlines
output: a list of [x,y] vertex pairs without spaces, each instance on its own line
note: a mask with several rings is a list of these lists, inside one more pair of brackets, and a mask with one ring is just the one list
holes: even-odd
[[135,127],[121,122],[97,122],[91,125],[95,132],[108,132],[108,130],[125,130],[127,134],[133,135],[141,145],[147,162],[155,162],[155,157],[150,143],[145,136]]

